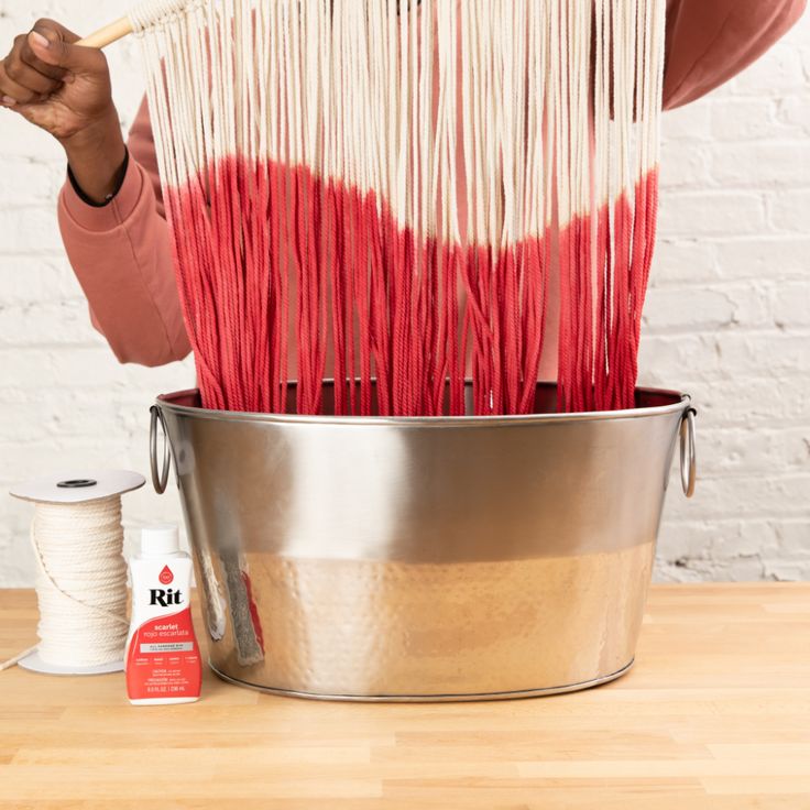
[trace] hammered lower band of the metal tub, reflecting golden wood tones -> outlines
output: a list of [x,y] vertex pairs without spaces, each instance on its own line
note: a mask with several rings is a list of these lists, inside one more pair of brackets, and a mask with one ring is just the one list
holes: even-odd
[[[324,696],[560,689],[630,665],[654,544],[455,565],[248,555],[264,660],[210,644],[220,674]],[[226,652],[230,650],[230,652]]]

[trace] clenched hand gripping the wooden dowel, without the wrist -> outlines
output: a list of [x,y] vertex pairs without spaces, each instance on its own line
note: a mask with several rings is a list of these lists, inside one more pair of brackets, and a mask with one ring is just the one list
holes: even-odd
[[0,64],[0,102],[59,141],[116,117],[107,58],[74,45],[78,40],[59,23],[40,20]]

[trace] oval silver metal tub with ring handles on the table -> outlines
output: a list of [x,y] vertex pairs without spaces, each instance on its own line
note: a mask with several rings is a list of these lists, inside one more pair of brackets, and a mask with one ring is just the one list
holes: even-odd
[[679,434],[694,484],[694,411],[649,388],[631,411],[555,401],[539,384],[530,416],[387,418],[158,397],[153,477],[165,489],[171,456],[214,670],[343,700],[528,697],[625,672]]

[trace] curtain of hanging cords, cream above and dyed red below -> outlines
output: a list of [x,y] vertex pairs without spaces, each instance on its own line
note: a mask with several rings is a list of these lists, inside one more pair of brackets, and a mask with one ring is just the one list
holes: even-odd
[[665,1],[139,7],[204,405],[632,407]]

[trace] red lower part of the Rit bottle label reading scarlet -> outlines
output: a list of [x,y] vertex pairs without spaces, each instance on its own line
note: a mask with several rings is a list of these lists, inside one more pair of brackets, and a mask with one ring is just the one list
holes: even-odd
[[201,679],[190,608],[150,619],[134,631],[127,656],[130,700],[197,698]]

